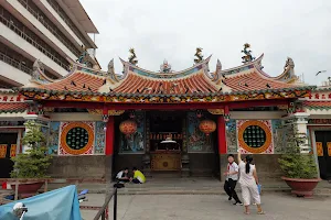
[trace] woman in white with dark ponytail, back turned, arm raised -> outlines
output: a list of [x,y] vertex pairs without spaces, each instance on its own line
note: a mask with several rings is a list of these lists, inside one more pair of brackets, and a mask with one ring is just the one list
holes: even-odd
[[242,187],[242,196],[245,206],[245,213],[249,215],[250,197],[253,197],[253,200],[257,206],[257,213],[264,215],[264,211],[260,207],[260,197],[257,188],[258,178],[256,174],[256,167],[255,165],[250,164],[252,161],[253,157],[250,155],[247,155],[243,162],[241,148],[238,150],[238,165],[239,165],[239,174],[241,174],[239,184]]

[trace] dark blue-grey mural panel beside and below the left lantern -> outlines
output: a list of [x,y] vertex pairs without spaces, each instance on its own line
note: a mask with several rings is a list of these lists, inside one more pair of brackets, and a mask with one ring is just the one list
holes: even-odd
[[145,153],[145,113],[136,113],[137,132],[130,136],[120,133],[119,153]]

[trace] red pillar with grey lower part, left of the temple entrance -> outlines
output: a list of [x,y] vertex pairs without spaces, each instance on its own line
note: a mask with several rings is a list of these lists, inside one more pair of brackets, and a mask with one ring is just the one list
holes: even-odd
[[115,141],[115,117],[108,116],[106,122],[106,160],[105,160],[105,178],[107,183],[113,178],[113,155],[114,155],[114,141]]

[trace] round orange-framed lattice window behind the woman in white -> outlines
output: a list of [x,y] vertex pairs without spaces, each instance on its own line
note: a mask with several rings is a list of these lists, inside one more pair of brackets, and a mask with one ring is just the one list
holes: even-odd
[[250,153],[263,153],[271,144],[270,129],[260,121],[246,121],[238,129],[241,146]]

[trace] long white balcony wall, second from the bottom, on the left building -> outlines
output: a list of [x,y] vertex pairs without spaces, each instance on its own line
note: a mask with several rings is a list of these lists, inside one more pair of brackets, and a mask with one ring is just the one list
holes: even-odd
[[66,69],[62,68],[62,66],[53,62],[51,58],[49,58],[46,55],[44,55],[42,52],[35,48],[32,44],[26,42],[24,38],[19,36],[17,33],[11,31],[2,23],[0,23],[0,35],[7,38],[12,44],[14,44],[15,46],[18,46],[19,48],[25,51],[33,57],[33,59],[39,58],[45,66],[50,67],[60,75],[65,76],[68,74]]

